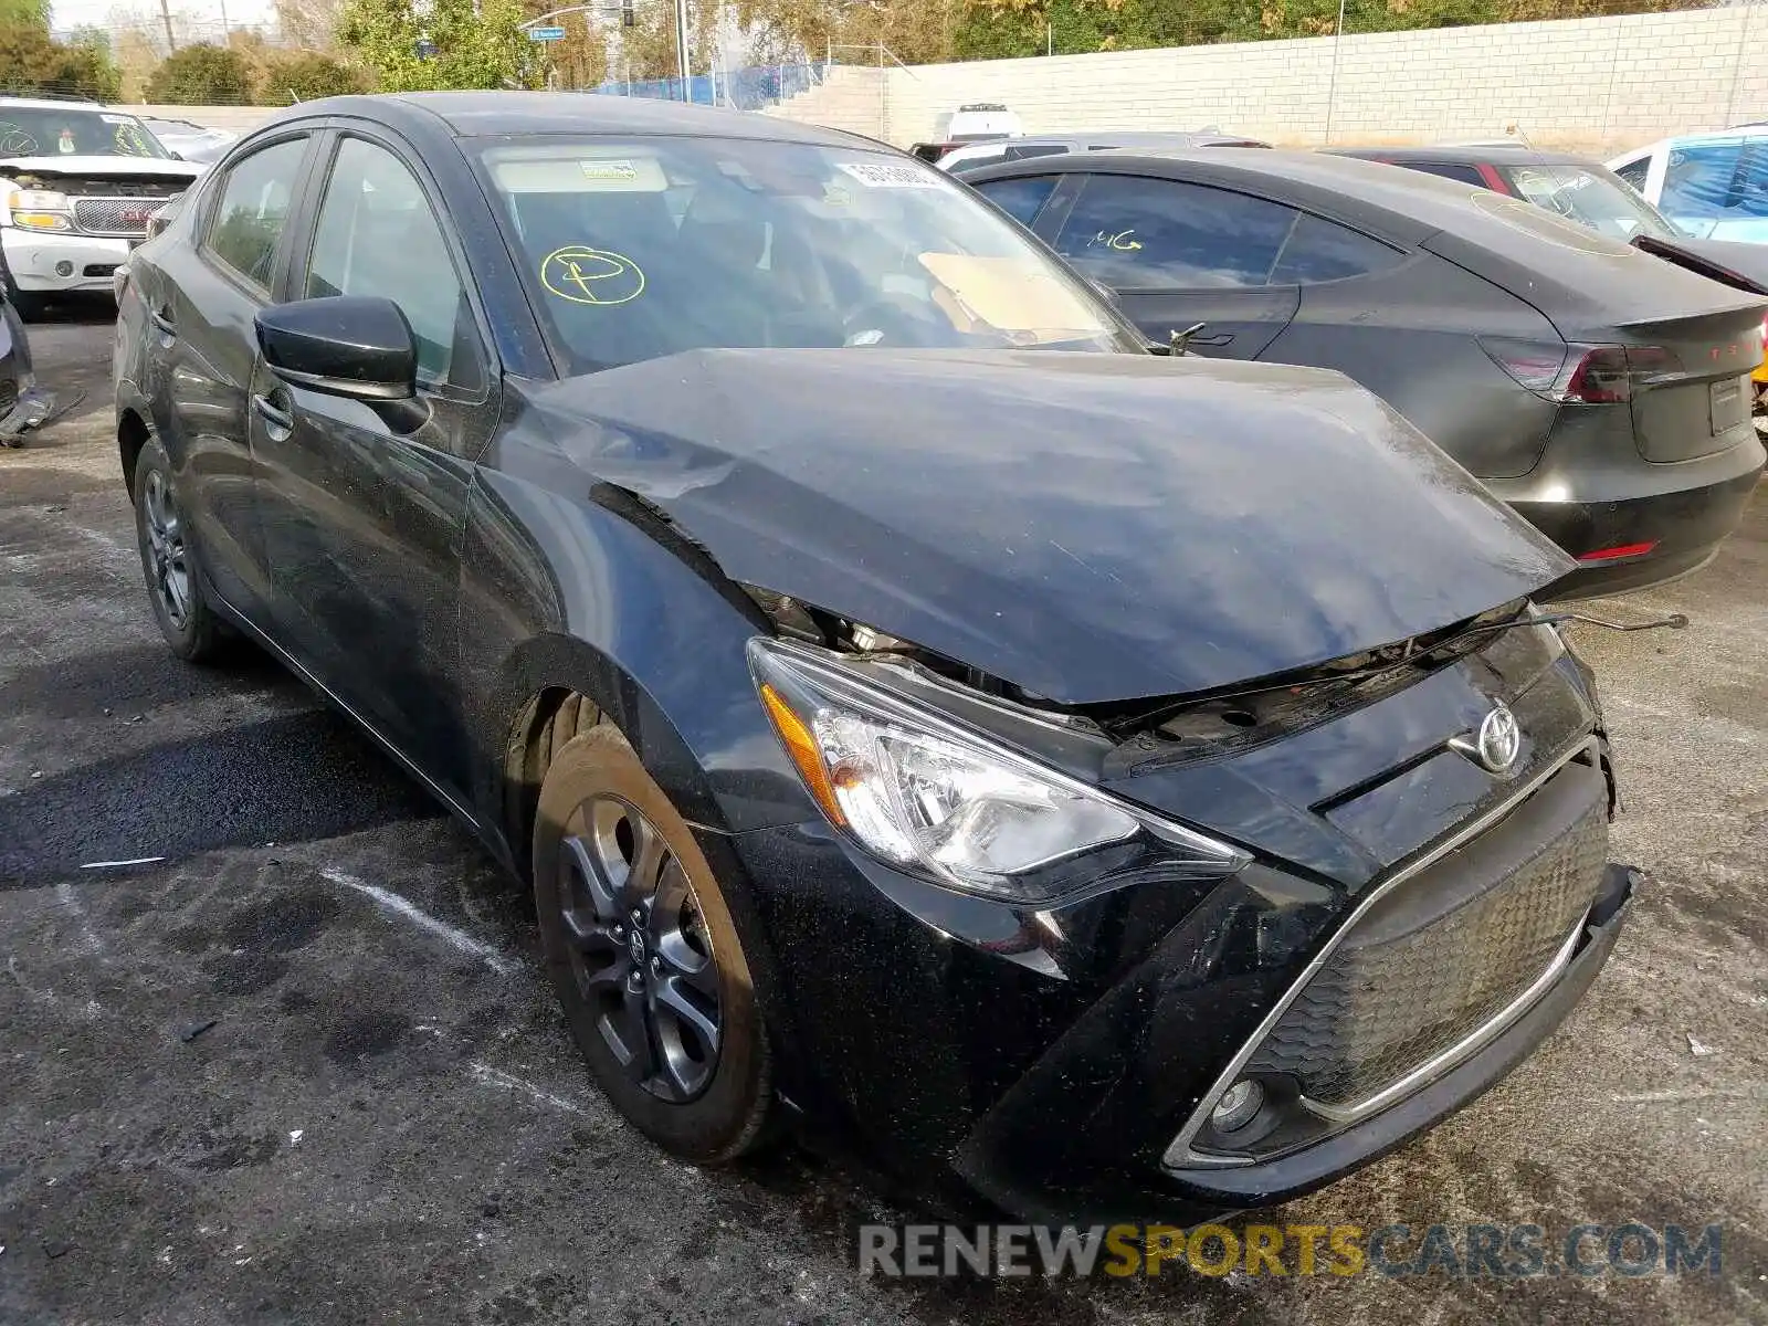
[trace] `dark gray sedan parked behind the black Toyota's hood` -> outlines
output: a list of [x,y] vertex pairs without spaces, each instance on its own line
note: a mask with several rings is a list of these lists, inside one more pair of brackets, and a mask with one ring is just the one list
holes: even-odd
[[1155,341],[1337,368],[1579,559],[1559,596],[1703,566],[1763,469],[1763,301],[1519,198],[1218,147],[967,173]]

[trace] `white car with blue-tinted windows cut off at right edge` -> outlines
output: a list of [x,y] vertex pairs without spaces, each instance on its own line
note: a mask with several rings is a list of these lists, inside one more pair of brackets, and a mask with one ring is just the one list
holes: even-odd
[[1768,244],[1768,126],[1665,138],[1609,170],[1696,239]]

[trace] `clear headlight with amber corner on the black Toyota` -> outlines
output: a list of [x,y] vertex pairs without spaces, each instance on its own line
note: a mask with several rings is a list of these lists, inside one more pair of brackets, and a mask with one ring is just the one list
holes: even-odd
[[840,654],[755,638],[750,670],[829,822],[944,888],[1048,902],[1149,870],[1227,875],[1248,859],[857,675]]

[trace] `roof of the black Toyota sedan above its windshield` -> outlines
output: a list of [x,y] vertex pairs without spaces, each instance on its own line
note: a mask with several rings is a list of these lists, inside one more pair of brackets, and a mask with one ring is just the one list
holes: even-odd
[[456,138],[493,134],[684,134],[698,138],[766,138],[822,147],[870,147],[895,152],[859,134],[796,120],[714,106],[688,106],[649,97],[587,92],[396,92],[384,95],[302,101],[272,124],[315,115],[361,115],[389,126],[438,122]]

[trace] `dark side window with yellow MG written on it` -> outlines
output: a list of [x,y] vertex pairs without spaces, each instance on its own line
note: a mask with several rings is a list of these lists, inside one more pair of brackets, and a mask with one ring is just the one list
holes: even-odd
[[1296,214],[1229,189],[1089,175],[1057,251],[1119,290],[1264,285]]

